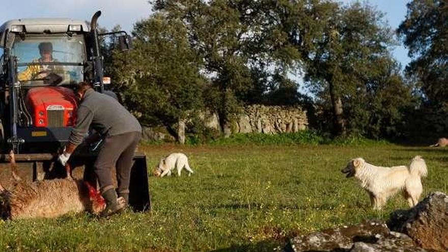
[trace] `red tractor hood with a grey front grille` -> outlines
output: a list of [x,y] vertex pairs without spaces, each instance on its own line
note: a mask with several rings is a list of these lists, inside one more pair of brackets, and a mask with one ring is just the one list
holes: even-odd
[[40,87],[30,89],[26,104],[36,127],[73,126],[76,98],[71,89],[64,87]]

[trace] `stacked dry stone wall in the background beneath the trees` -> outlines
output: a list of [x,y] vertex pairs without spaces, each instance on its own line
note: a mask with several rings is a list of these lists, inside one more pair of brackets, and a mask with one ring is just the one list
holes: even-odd
[[224,133],[291,133],[307,126],[306,111],[300,107],[250,105],[227,125]]

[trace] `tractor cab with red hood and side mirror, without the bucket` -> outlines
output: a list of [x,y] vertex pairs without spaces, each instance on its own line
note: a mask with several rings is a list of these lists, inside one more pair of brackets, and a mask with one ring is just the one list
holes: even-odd
[[[76,122],[73,90],[81,81],[104,91],[96,19],[16,19],[0,26],[2,145],[15,153],[55,151]],[[118,36],[129,49],[125,32]]]

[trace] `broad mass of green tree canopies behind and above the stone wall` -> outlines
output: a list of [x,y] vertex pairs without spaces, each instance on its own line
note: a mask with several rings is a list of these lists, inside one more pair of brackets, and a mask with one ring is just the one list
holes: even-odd
[[394,33],[366,3],[150,3],[153,14],[134,26],[135,49],[116,53],[113,67],[145,124],[170,129],[209,109],[224,128],[244,104],[312,101],[325,115],[316,128],[382,137],[396,134],[412,104],[412,86],[390,54]]

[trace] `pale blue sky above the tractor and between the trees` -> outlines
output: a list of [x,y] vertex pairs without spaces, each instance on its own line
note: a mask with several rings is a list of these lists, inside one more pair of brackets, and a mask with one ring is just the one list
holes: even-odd
[[[351,3],[355,0],[340,0]],[[34,17],[67,17],[90,20],[101,10],[98,19],[101,26],[110,30],[120,24],[126,32],[131,32],[135,22],[151,13],[148,0],[0,0],[0,24],[10,19]],[[393,29],[397,29],[406,15],[408,0],[370,0],[372,6],[385,13],[385,19]],[[410,59],[403,46],[395,48],[394,57],[405,67]]]

